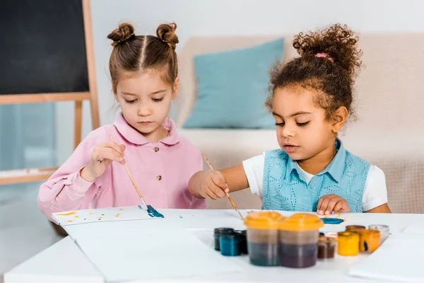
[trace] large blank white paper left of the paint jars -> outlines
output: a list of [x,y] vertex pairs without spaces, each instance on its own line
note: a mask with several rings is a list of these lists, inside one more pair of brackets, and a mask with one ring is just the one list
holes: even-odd
[[182,228],[164,226],[119,237],[82,237],[76,243],[108,282],[242,271]]

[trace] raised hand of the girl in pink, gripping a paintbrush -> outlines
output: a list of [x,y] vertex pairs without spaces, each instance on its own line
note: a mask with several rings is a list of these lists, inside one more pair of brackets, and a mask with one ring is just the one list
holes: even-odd
[[107,166],[109,166],[112,161],[118,161],[121,164],[125,164],[124,150],[124,144],[119,145],[114,141],[99,144],[93,150],[90,163],[81,170],[81,178],[88,182],[93,182],[106,171]]

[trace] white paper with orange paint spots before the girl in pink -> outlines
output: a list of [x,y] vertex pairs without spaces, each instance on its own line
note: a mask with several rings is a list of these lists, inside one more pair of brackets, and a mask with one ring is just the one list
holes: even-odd
[[70,212],[57,212],[53,213],[52,216],[61,226],[104,221],[155,219],[155,217],[149,216],[146,210],[137,206],[81,209]]

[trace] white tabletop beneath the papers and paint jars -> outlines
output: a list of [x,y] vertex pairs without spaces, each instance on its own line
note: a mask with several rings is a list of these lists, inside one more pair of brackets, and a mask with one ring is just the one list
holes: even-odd
[[[167,223],[172,226],[182,226],[189,229],[207,246],[213,249],[213,229],[230,226],[242,229],[242,221],[232,210],[189,210],[160,209],[165,219],[155,221],[134,221],[134,227],[149,227]],[[289,212],[281,212],[289,215]],[[246,215],[247,211],[242,211]],[[424,214],[343,214],[346,225],[387,224],[392,234],[400,233],[407,226],[424,223]],[[87,226],[90,225],[90,229]],[[100,272],[76,246],[73,240],[80,236],[102,235],[105,227],[112,226],[114,233],[122,233],[123,222],[104,222],[67,226],[71,237],[66,237],[59,243],[47,248],[42,253],[23,262],[4,276],[5,283],[15,282],[104,282]],[[128,227],[128,225],[126,225]],[[344,226],[326,226],[326,231],[343,231]],[[126,233],[128,231],[126,228]],[[218,252],[217,252],[218,253]],[[345,273],[349,267],[364,260],[367,255],[356,257],[340,257],[336,255],[331,262],[317,262],[317,265],[307,269],[290,269],[285,267],[257,267],[249,264],[248,256],[230,258],[243,268],[243,272],[217,274],[207,277],[178,278],[172,280],[156,280],[155,282],[375,282],[367,279],[348,277]],[[182,258],[184,260],[184,258]],[[138,281],[143,282],[143,281]],[[149,280],[152,282],[152,280]]]

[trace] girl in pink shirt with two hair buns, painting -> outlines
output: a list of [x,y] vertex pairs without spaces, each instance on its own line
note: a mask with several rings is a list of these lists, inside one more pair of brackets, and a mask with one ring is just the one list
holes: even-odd
[[124,163],[156,209],[205,207],[187,185],[202,170],[201,153],[167,118],[179,86],[176,28],[164,24],[157,36],[134,35],[134,27],[122,23],[107,36],[114,47],[112,90],[122,113],[113,125],[90,132],[41,185],[38,204],[49,219],[54,212],[141,204]]

